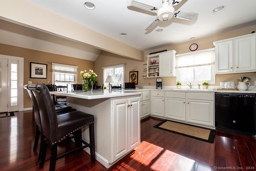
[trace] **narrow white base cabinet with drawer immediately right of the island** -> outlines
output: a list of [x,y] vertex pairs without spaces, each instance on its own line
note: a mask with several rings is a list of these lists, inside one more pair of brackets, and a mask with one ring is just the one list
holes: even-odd
[[142,91],[140,118],[150,115],[150,91]]

